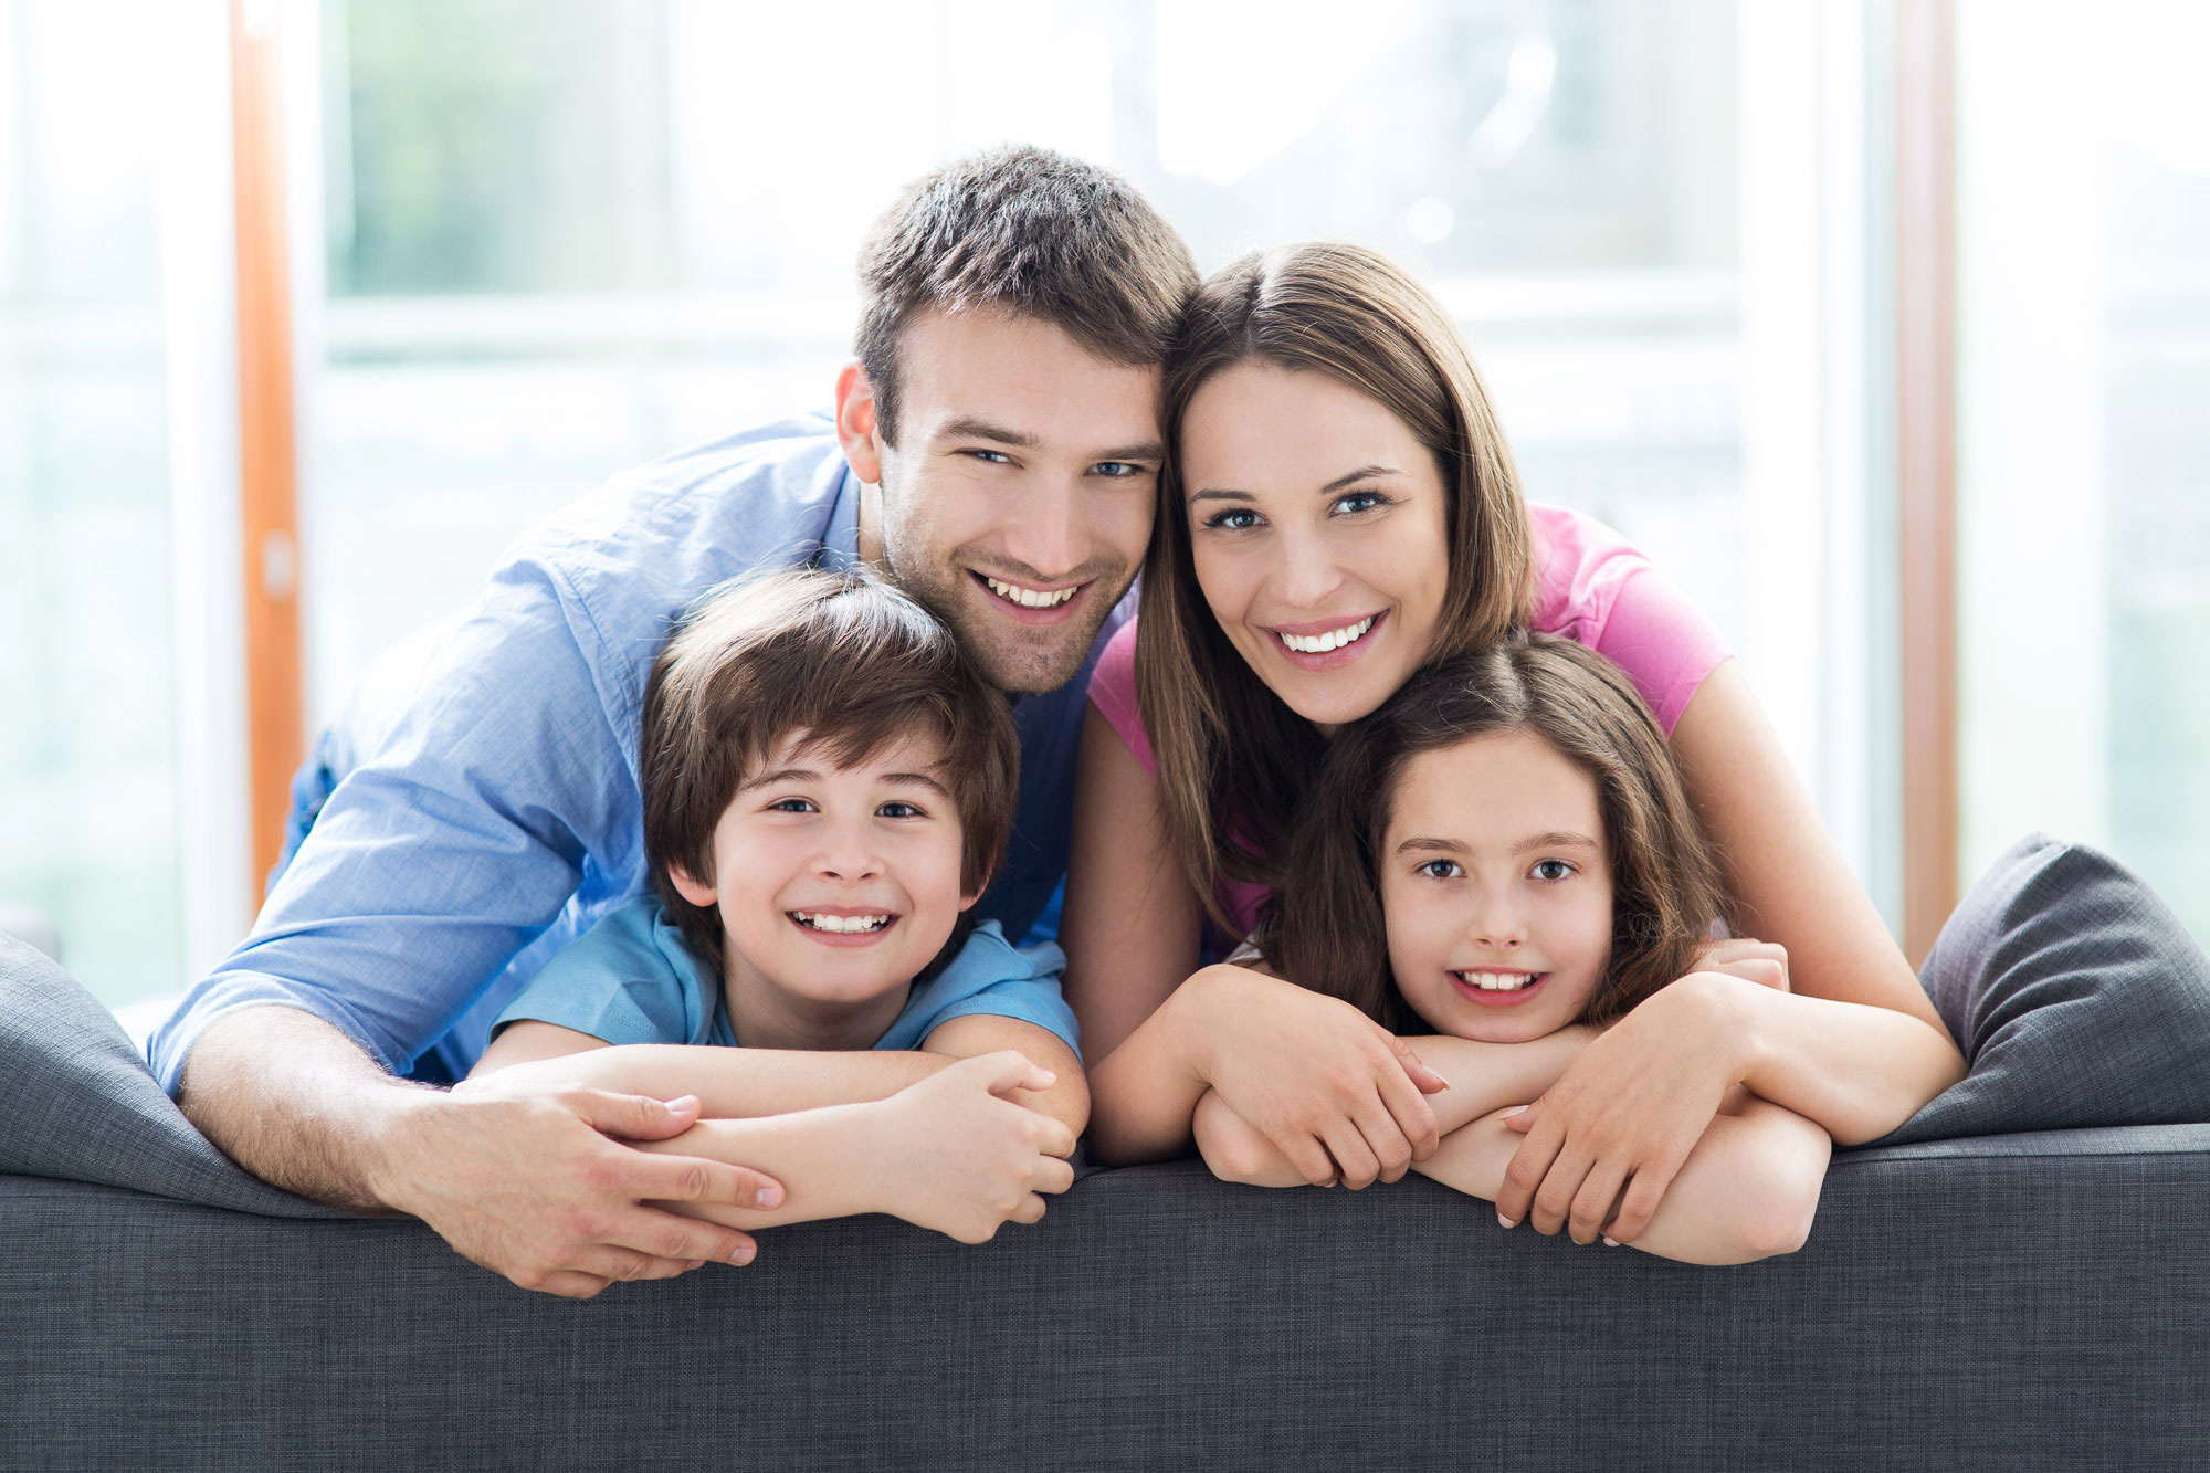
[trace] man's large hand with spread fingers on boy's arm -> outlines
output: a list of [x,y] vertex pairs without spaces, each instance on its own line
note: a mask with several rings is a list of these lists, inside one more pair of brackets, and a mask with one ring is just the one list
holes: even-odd
[[415,1101],[380,1152],[378,1199],[524,1289],[590,1298],[614,1281],[751,1263],[747,1234],[643,1203],[782,1201],[760,1172],[623,1143],[690,1130],[690,1095],[661,1104],[502,1070]]

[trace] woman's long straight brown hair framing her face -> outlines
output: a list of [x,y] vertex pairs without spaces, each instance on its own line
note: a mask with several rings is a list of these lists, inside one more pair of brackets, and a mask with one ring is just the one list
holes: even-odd
[[1428,659],[1494,646],[1534,608],[1527,506],[1450,314],[1364,245],[1249,254],[1209,279],[1167,356],[1167,473],[1143,564],[1136,699],[1167,834],[1213,918],[1222,880],[1280,882],[1288,821],[1326,741],[1244,664],[1198,588],[1178,473],[1182,416],[1238,363],[1326,374],[1381,400],[1443,473],[1450,582]]

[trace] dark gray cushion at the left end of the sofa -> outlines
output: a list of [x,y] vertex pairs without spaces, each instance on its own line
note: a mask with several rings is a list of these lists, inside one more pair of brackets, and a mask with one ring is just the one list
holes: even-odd
[[270,1216],[345,1216],[239,1170],[192,1128],[75,978],[0,936],[0,1172]]

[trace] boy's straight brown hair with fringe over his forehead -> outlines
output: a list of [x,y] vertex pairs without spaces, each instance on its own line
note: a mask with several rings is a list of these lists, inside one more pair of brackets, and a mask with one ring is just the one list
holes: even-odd
[[[723,812],[793,734],[838,767],[915,734],[941,741],[937,772],[959,809],[964,891],[990,882],[1012,832],[1021,785],[1012,710],[933,613],[855,571],[791,568],[723,584],[652,661],[636,759],[652,882],[716,973],[720,916],[685,900],[667,871],[714,882]],[[961,918],[950,944],[964,933]]]

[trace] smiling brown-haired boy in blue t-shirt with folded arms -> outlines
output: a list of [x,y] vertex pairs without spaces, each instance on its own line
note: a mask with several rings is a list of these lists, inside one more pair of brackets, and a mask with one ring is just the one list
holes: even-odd
[[[774,1210],[692,1208],[732,1228],[888,1212],[981,1243],[1043,1216],[1074,1132],[1014,1099],[1081,1090],[1074,1013],[1056,947],[966,916],[1012,827],[1019,739],[953,633],[864,573],[736,584],[654,664],[639,752],[656,894],[537,973],[462,1090],[530,1068],[696,1097],[701,1124],[652,1148],[785,1185]],[[964,1017],[1014,1020],[1019,1053],[864,1104],[787,1053],[937,1068]]]

